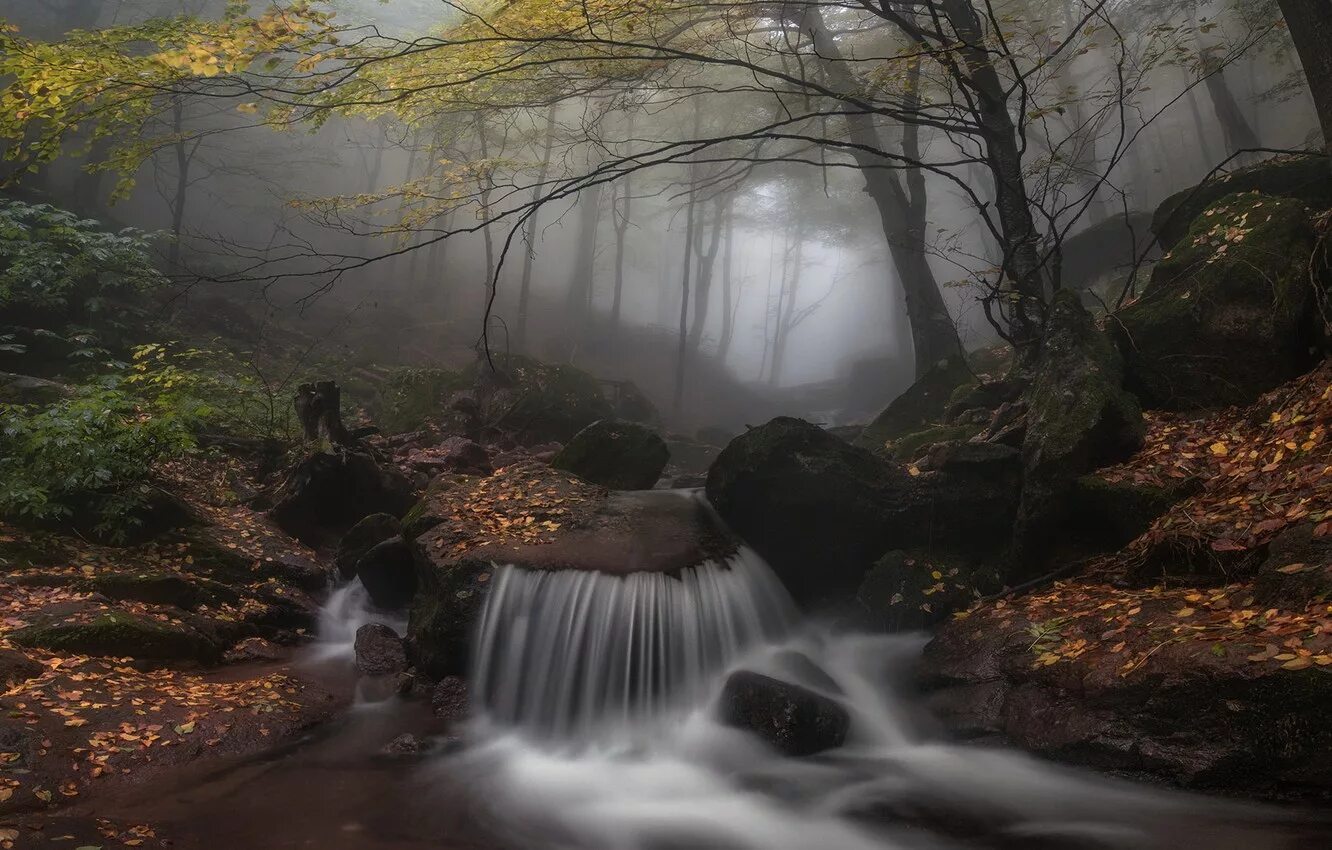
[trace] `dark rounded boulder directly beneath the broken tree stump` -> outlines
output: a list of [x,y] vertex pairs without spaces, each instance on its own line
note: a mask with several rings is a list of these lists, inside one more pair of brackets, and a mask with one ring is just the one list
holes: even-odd
[[412,482],[364,452],[317,452],[290,472],[269,512],[288,534],[317,545],[374,513],[401,517]]

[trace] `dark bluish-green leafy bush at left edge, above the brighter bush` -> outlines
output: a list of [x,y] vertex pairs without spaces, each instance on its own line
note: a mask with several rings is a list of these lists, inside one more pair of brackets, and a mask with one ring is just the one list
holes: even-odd
[[127,300],[163,282],[144,233],[108,233],[47,204],[0,201],[0,350],[95,361],[135,316]]

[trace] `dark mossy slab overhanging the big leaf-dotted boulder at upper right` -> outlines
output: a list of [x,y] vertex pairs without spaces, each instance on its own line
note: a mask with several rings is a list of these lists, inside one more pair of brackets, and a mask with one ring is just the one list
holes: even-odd
[[1332,169],[1323,156],[1283,156],[1215,177],[1162,201],[1152,216],[1152,233],[1163,248],[1172,249],[1199,216],[1237,192],[1291,197],[1325,209],[1332,207]]

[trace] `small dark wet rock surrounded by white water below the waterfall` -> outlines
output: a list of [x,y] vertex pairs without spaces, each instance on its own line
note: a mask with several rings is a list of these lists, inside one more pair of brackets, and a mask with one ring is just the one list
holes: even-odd
[[721,719],[795,758],[842,746],[851,717],[813,690],[742,670],[722,689]]

